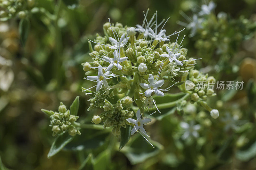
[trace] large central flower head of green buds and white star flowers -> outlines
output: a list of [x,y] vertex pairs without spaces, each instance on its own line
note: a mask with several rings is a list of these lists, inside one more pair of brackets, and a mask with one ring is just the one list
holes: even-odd
[[[87,75],[84,79],[96,83],[88,89],[82,88],[91,96],[88,110],[103,108],[104,112],[92,122],[114,127],[115,135],[120,135],[120,127],[128,124],[134,127],[132,135],[140,132],[145,139],[149,137],[143,125],[151,119],[141,118],[144,110],[155,106],[161,113],[154,96],[164,97],[196,64],[196,59],[187,59],[187,49],[182,48],[185,36],[178,43],[184,29],[166,35],[163,28],[168,19],[158,23],[157,11],[149,21],[147,15],[148,11],[144,12],[143,24],[136,28],[111,24],[109,20],[103,25],[105,37],[97,35],[94,41],[88,41],[92,61],[82,64]],[[177,35],[176,41],[166,43],[172,35]],[[133,111],[130,111],[130,105],[134,108],[134,104],[139,109],[136,109],[137,120],[132,119]]]

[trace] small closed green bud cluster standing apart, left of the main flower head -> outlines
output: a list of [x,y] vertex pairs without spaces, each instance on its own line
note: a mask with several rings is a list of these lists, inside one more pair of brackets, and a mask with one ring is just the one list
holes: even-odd
[[52,115],[50,115],[51,124],[49,126],[52,127],[52,136],[65,132],[68,132],[71,136],[76,134],[81,135],[81,132],[74,125],[74,122],[76,122],[79,116],[70,114],[70,111],[67,110],[66,105],[62,102],[60,102],[58,112],[50,112]]

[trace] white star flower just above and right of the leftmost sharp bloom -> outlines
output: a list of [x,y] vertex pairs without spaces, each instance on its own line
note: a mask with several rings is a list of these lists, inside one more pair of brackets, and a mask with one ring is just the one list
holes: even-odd
[[109,58],[107,56],[104,56],[103,59],[105,61],[107,61],[108,63],[110,63],[109,66],[107,67],[106,71],[110,71],[113,68],[113,66],[116,66],[116,68],[118,70],[122,70],[123,66],[120,65],[120,62],[125,61],[127,58],[128,57],[120,58],[117,50],[114,51],[114,58]]

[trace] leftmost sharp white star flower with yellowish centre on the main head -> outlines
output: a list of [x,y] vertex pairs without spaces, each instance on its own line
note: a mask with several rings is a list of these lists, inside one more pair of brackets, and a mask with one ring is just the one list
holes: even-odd
[[98,75],[97,76],[87,76],[86,78],[90,81],[96,81],[97,82],[96,91],[99,91],[101,89],[102,84],[104,84],[104,86],[106,88],[108,88],[108,82],[106,79],[108,79],[108,77],[111,75],[113,75],[113,74],[111,74],[111,71],[107,71],[106,73],[103,74],[102,66],[99,65],[98,66]]

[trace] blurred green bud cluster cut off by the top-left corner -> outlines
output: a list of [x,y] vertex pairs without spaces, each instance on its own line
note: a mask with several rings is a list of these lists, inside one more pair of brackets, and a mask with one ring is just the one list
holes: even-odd
[[0,0],[1,21],[18,16],[23,19],[27,15],[27,9],[35,5],[35,0]]

